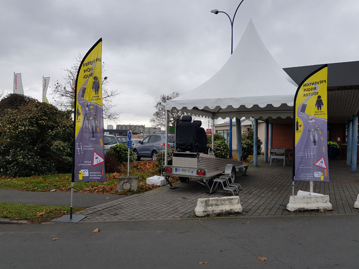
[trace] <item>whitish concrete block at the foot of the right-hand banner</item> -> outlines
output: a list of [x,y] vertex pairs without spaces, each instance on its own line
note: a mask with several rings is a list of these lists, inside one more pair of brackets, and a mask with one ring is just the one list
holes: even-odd
[[329,195],[294,195],[289,198],[287,210],[333,210]]

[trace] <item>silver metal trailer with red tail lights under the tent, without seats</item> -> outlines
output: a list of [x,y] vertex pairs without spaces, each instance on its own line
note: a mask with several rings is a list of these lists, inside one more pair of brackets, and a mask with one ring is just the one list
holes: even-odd
[[210,190],[209,180],[221,175],[230,175],[231,181],[234,182],[236,172],[244,169],[245,174],[247,168],[248,164],[233,159],[217,158],[199,152],[174,152],[172,165],[164,165],[163,174],[171,187],[173,186],[169,178],[178,176],[182,182],[193,179]]

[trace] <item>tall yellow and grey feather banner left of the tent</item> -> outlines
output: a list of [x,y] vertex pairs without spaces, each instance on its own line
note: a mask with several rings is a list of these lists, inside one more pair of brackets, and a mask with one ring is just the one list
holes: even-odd
[[72,181],[106,181],[102,113],[102,38],[86,53],[76,78]]

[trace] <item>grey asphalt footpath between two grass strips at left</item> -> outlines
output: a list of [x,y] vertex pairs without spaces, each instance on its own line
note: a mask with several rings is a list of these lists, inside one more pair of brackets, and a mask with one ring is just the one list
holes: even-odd
[[[126,195],[74,192],[73,206],[91,207],[109,201],[114,201],[122,197],[126,197]],[[70,193],[56,191],[35,192],[0,189],[0,202],[33,205],[70,206]]]

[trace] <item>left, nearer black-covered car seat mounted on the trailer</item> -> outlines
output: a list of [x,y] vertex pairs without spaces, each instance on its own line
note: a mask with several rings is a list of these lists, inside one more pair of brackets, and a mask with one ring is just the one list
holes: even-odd
[[194,151],[198,148],[196,132],[191,121],[192,116],[184,115],[177,125],[176,144],[180,150]]

